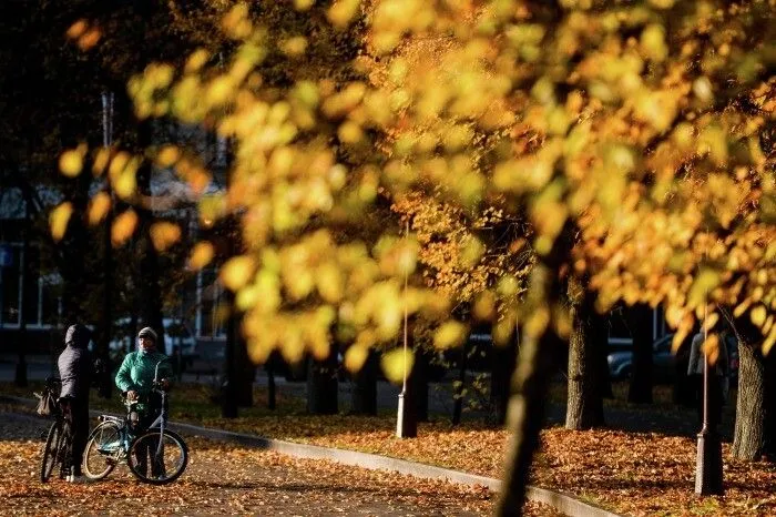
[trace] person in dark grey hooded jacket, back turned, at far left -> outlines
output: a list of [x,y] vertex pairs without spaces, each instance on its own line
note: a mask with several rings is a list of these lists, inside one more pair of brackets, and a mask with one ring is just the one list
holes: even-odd
[[59,376],[62,379],[60,399],[69,405],[72,428],[72,470],[68,480],[85,480],[81,473],[83,449],[89,436],[89,388],[92,385],[92,356],[86,348],[91,331],[83,325],[71,325],[64,335],[64,351],[60,354]]

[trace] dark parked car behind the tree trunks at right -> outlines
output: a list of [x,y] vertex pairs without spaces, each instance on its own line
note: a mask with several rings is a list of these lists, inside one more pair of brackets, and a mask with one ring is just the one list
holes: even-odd
[[[671,381],[676,375],[677,358],[671,349],[673,339],[673,334],[666,334],[652,344],[652,375],[655,381]],[[726,344],[728,372],[731,378],[735,381],[738,377],[738,343],[734,337],[729,337]],[[685,365],[682,369],[686,368],[687,357],[684,356],[688,356],[688,349],[680,351],[680,365],[682,361]],[[631,376],[633,371],[632,345],[620,345],[617,348],[613,348],[606,359],[609,363],[609,375],[613,379],[623,379]]]

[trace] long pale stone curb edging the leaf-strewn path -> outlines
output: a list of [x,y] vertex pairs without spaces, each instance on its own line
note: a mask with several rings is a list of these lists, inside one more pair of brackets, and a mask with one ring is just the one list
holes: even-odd
[[[27,406],[34,406],[35,401],[12,396],[0,396],[0,402],[13,402]],[[90,410],[92,416],[110,414],[105,412]],[[492,477],[478,476],[449,468],[436,467],[406,459],[391,458],[377,454],[359,453],[357,450],[347,450],[339,448],[321,447],[319,445],[298,444],[294,442],[285,442],[273,438],[264,438],[256,435],[244,433],[233,433],[231,430],[213,429],[208,427],[200,427],[192,424],[180,422],[170,422],[170,426],[181,429],[184,434],[201,436],[218,442],[228,442],[246,447],[254,447],[266,450],[274,450],[288,456],[307,459],[328,459],[344,465],[367,468],[371,470],[389,470],[399,474],[407,474],[415,477],[426,479],[446,479],[448,481],[469,486],[484,486],[493,491],[501,489],[501,480]],[[542,503],[554,507],[557,510],[572,516],[585,517],[620,517],[603,508],[589,505],[573,496],[528,486],[525,489],[525,498],[535,503]]]

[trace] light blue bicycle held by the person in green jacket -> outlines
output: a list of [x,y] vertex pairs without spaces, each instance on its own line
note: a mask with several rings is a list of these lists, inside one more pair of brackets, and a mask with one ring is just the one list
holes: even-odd
[[[166,359],[163,359],[166,361]],[[166,391],[154,372],[152,392],[161,395],[162,409],[144,429],[137,428],[140,402],[124,398],[126,416],[100,415],[100,424],[86,438],[83,473],[90,479],[104,479],[116,465],[126,463],[141,481],[166,485],[177,479],[188,464],[188,447],[183,438],[167,429]],[[149,472],[147,460],[151,459]]]

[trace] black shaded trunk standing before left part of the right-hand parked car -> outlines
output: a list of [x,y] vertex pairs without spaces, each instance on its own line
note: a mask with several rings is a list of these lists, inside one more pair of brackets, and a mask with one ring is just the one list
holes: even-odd
[[633,337],[633,367],[627,401],[652,404],[652,308],[639,304],[629,307],[626,314]]

